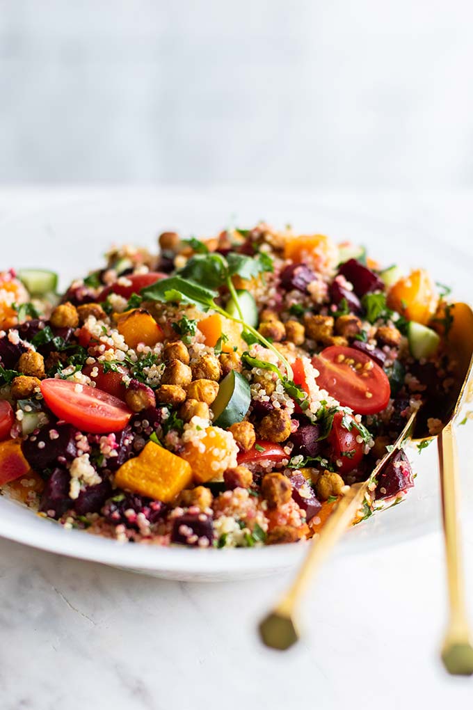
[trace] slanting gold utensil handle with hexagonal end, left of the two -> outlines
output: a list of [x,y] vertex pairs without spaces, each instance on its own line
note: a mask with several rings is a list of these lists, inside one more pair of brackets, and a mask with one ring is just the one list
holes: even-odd
[[368,481],[365,481],[363,484],[355,484],[338,501],[320,535],[314,537],[310,543],[308,554],[293,584],[274,609],[260,623],[260,635],[267,646],[285,650],[299,638],[294,621],[294,612],[299,606],[301,596],[306,591],[306,587],[314,574],[328,557],[330,550],[332,550],[350,523],[352,523],[353,518],[355,518],[357,510],[362,505],[363,498],[365,498],[368,483]]

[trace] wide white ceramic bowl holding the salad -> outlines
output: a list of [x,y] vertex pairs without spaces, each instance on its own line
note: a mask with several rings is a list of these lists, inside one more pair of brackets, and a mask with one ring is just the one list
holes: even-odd
[[[94,195],[97,195],[94,192]],[[108,196],[107,196],[108,195]],[[113,241],[150,245],[165,229],[184,234],[213,234],[229,223],[248,226],[264,217],[275,226],[291,222],[301,231],[321,231],[338,241],[365,244],[379,261],[425,266],[443,283],[455,283],[455,295],[472,300],[467,261],[445,244],[423,241],[402,224],[369,219],[355,210],[340,209],[330,200],[274,195],[269,192],[233,193],[228,190],[121,190],[115,197],[69,197],[48,209],[9,216],[0,222],[1,268],[43,267],[62,275],[62,286],[101,263]],[[467,444],[469,427],[460,430],[463,501],[472,508],[473,476]],[[408,540],[440,524],[438,466],[435,444],[411,452],[418,471],[416,487],[400,506],[379,513],[347,532],[336,554],[353,554],[380,545]],[[123,545],[78,530],[64,530],[27,508],[0,497],[0,535],[62,555],[89,559],[169,579],[210,581],[272,574],[300,561],[306,545],[262,549],[194,550],[151,545]]]

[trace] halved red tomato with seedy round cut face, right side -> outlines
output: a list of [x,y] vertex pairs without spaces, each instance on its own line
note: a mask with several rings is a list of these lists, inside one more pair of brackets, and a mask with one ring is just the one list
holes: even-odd
[[354,348],[331,345],[312,358],[318,386],[357,414],[376,414],[386,408],[391,394],[386,373]]

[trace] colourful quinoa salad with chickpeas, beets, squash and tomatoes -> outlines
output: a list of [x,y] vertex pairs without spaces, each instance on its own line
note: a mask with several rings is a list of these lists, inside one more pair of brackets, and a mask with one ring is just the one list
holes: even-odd
[[[0,273],[0,493],[121,542],[316,535],[453,384],[447,289],[422,269],[267,224]],[[404,499],[403,449],[354,523]]]

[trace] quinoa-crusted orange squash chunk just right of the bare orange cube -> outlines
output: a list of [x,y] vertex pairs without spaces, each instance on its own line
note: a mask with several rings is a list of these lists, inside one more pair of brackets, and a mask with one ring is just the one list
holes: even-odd
[[220,427],[207,427],[204,437],[184,444],[182,458],[189,461],[194,480],[206,483],[223,480],[223,471],[237,465],[238,447],[230,432]]

